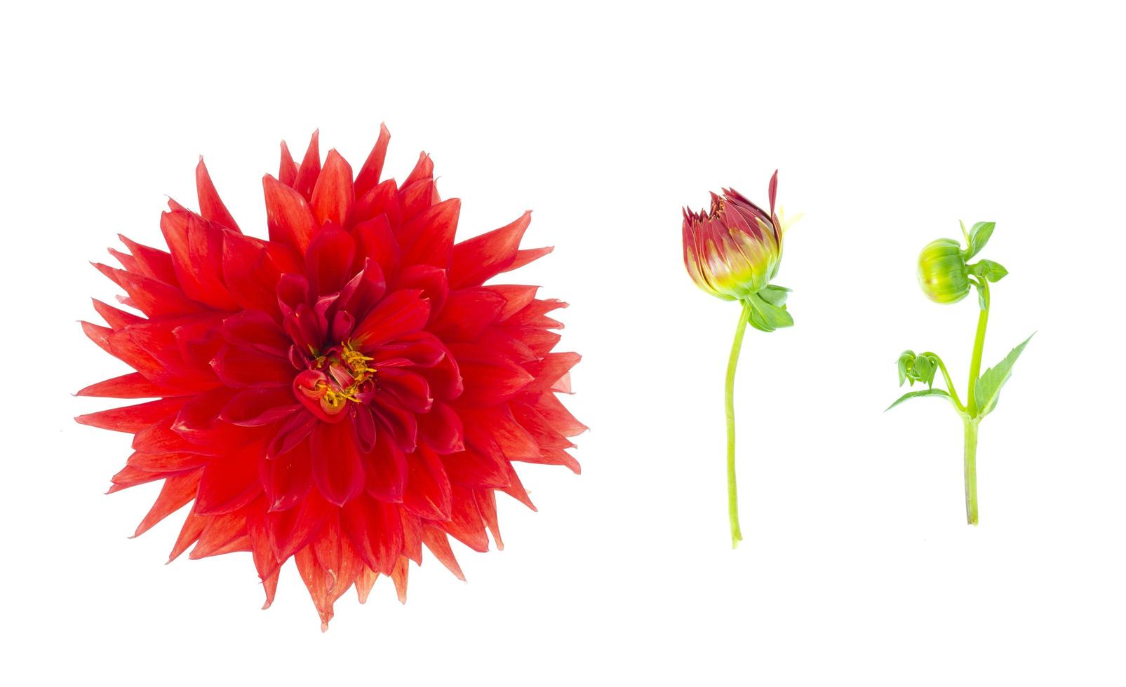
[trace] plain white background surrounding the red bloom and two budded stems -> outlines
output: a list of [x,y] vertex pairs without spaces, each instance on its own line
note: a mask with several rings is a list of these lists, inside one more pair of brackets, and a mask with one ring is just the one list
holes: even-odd
[[[1112,685],[1126,680],[1121,18],[1085,2],[20,3],[5,10],[0,678],[8,684]],[[1019,9],[1018,9],[1019,8]],[[507,548],[455,544],[400,606],[381,580],[321,634],[292,564],[163,566],[127,540],[154,485],[102,496],[126,435],[73,415],[124,370],[82,336],[87,265],[159,243],[196,156],[265,235],[277,145],[386,170],[432,153],[462,236],[534,208],[513,277],[569,300],[581,477],[521,470]],[[805,213],[738,382],[745,541],[727,542],[723,368],[738,307],[683,272],[680,206],[734,186]],[[883,414],[903,349],[965,386],[972,299],[927,301],[919,248],[993,219],[985,364],[1033,331],[982,425],[964,523],[945,404]]]

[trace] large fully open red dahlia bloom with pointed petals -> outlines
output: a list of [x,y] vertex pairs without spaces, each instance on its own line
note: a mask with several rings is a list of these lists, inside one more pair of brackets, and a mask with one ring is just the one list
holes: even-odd
[[170,201],[168,251],[122,237],[97,264],[143,316],[95,300],[87,335],[135,371],[82,396],[157,398],[83,415],[127,432],[110,491],[163,480],[141,534],[191,504],[171,552],[250,551],[274,599],[295,559],[322,627],[349,587],[379,575],[405,600],[422,546],[462,577],[447,536],[486,551],[495,492],[533,507],[513,461],[578,472],[584,430],[569,392],[575,353],[553,353],[565,304],[486,280],[551,252],[520,250],[530,216],[454,243],[459,201],[419,157],[381,181],[390,134],[352,175],[318,136],[302,163],[282,144],[266,175],[269,239],[244,235],[200,160],[199,213]]

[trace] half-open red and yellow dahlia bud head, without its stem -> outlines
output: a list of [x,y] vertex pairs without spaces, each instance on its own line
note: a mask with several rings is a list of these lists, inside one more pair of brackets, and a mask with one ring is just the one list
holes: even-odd
[[711,211],[683,210],[685,268],[700,289],[724,300],[762,290],[778,273],[781,223],[775,214],[778,172],[770,178],[770,213],[738,191],[712,193]]

